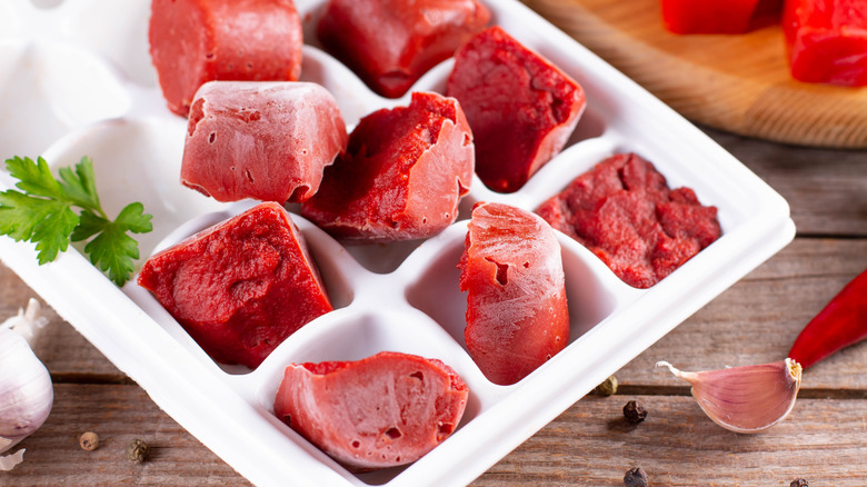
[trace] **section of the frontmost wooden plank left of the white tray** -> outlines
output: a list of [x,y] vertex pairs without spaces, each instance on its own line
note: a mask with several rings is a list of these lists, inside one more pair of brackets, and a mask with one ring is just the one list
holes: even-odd
[[[84,431],[99,435],[94,451],[79,447]],[[151,446],[143,464],[129,461],[134,438]],[[24,463],[0,473],[3,486],[249,486],[138,386],[56,384],[54,405],[42,427],[19,447]],[[13,448],[13,451],[18,447]]]

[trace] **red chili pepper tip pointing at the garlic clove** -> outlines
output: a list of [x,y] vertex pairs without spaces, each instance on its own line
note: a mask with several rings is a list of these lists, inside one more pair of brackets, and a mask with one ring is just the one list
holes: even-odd
[[805,369],[867,338],[867,270],[853,279],[804,327],[789,358]]

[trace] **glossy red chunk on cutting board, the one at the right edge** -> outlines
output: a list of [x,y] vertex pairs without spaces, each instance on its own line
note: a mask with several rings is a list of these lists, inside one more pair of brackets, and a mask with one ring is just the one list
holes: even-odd
[[787,0],[783,31],[796,80],[867,86],[867,0]]

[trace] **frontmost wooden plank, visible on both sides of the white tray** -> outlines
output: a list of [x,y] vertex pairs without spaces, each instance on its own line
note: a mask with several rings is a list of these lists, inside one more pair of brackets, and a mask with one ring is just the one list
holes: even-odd
[[[249,483],[159,410],[137,386],[57,385],[46,425],[20,444],[26,461],[0,474],[4,486],[137,485],[247,486]],[[649,410],[636,426],[622,406]],[[616,395],[578,401],[472,485],[622,485],[641,466],[651,485],[788,485],[804,477],[823,485],[860,486],[867,477],[867,400],[799,400],[790,417],[758,435],[727,431],[690,397]],[[78,437],[100,436],[96,451]],[[123,448],[141,437],[153,447],[144,464]]]

